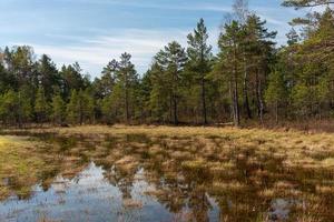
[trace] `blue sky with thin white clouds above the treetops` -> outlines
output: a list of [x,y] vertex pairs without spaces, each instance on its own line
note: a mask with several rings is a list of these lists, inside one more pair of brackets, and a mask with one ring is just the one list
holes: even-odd
[[[287,24],[299,12],[281,7],[282,0],[249,0],[249,10],[278,31],[284,44]],[[168,42],[187,46],[187,34],[204,18],[209,43],[217,52],[222,23],[233,0],[0,0],[0,48],[31,46],[58,67],[78,61],[99,77],[108,61],[132,54],[139,73]]]

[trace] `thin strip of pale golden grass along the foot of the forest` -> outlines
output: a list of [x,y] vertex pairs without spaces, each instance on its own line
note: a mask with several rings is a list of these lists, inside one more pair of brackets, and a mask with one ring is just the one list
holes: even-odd
[[[291,138],[332,138],[334,140],[333,133],[326,132],[306,132],[303,130],[294,129],[237,129],[232,127],[216,128],[216,127],[165,127],[165,125],[81,125],[81,127],[70,127],[70,128],[31,128],[31,129],[2,129],[3,132],[32,132],[32,133],[43,133],[52,132],[63,135],[70,134],[84,134],[84,135],[97,135],[97,134],[146,134],[146,135],[165,135],[165,137],[191,137],[191,135],[256,135],[256,137],[291,137]],[[264,134],[265,133],[265,134]]]

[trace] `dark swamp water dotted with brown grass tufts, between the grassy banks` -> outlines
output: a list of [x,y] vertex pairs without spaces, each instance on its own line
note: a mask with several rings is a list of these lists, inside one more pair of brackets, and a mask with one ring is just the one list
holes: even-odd
[[334,172],[229,138],[58,137],[39,183],[1,175],[7,221],[334,221]]

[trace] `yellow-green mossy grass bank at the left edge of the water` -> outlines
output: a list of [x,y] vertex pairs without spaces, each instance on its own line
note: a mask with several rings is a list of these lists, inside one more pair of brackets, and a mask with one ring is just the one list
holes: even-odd
[[82,170],[78,158],[66,157],[60,149],[30,137],[0,135],[0,201],[10,195],[29,199],[33,185],[48,189],[59,172],[72,178]]

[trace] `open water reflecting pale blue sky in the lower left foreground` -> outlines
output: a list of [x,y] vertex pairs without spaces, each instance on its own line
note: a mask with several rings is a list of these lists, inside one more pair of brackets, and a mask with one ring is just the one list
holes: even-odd
[[[183,213],[174,214],[146,194],[155,188],[145,180],[143,169],[127,188],[128,194],[110,184],[104,173],[92,162],[72,180],[58,176],[48,191],[36,185],[29,200],[11,196],[0,204],[0,221],[187,221],[189,208],[185,206]],[[207,219],[218,221],[218,206],[208,199],[212,210],[207,212]]]

